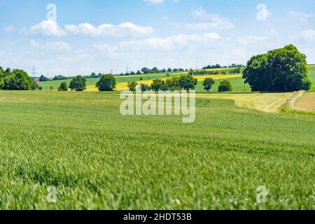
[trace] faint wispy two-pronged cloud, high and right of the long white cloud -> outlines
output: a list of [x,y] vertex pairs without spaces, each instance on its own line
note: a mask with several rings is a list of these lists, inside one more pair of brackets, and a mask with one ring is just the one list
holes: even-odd
[[207,20],[207,22],[187,23],[184,25],[186,29],[233,29],[235,27],[228,18],[222,18],[220,15],[214,13],[207,13],[202,8],[193,10],[193,15],[195,18],[202,18],[202,20]]

